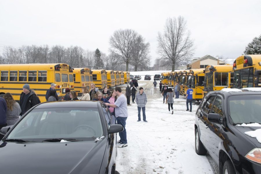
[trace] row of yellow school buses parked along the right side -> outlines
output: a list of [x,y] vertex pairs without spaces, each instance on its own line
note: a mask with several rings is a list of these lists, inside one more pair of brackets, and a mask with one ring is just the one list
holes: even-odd
[[261,55],[242,55],[233,65],[208,65],[206,68],[162,73],[161,81],[171,87],[179,81],[182,95],[186,95],[191,85],[196,101],[212,90],[261,87]]

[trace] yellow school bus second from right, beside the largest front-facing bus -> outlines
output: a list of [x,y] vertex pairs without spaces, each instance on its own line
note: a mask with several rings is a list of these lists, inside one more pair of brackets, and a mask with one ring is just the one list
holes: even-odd
[[205,68],[203,95],[208,91],[231,88],[233,77],[233,65],[208,65]]

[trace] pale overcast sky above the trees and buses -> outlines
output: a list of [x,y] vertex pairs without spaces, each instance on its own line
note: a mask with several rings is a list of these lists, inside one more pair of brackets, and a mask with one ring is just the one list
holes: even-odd
[[260,0],[0,0],[0,48],[58,44],[108,54],[113,32],[129,28],[151,44],[153,65],[158,32],[168,17],[181,15],[194,40],[193,57],[237,58],[261,34],[260,8]]

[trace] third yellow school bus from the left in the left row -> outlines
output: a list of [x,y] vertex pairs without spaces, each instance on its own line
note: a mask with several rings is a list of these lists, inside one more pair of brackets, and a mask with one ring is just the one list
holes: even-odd
[[93,83],[96,88],[103,89],[107,86],[107,74],[106,70],[91,70],[93,74]]

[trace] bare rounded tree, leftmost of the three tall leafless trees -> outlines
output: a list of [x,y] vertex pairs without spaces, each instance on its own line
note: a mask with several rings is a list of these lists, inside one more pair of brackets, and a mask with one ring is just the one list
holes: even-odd
[[131,29],[117,30],[110,37],[110,52],[126,63],[126,71],[131,62],[131,54],[135,46],[135,37],[137,33]]

